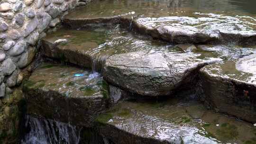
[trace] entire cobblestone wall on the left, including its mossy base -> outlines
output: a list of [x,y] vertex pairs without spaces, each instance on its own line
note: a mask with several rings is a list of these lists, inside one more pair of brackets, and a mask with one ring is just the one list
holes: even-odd
[[[82,1],[82,2],[81,2]],[[19,85],[40,38],[63,14],[89,0],[0,0],[0,144],[16,144],[23,98]]]

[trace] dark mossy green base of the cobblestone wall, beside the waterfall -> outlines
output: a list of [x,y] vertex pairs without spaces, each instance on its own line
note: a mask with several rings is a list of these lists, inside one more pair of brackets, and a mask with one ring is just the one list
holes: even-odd
[[26,102],[20,88],[0,99],[0,144],[16,144],[21,129],[22,117],[26,113]]

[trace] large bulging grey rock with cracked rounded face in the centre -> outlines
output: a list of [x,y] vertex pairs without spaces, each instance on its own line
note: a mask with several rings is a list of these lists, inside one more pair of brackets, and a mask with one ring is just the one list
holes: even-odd
[[197,72],[218,59],[198,59],[200,54],[139,51],[107,59],[104,79],[124,90],[145,96],[166,96],[191,84]]

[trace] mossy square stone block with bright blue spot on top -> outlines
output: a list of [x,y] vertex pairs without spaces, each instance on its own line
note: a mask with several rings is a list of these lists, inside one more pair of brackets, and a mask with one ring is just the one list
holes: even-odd
[[109,99],[99,73],[51,63],[42,63],[23,90],[27,114],[79,126],[91,126]]

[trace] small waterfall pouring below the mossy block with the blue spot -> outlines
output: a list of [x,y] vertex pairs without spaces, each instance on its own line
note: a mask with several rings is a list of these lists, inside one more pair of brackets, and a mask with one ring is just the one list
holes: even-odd
[[21,144],[79,144],[81,128],[50,119],[26,116],[25,135]]

